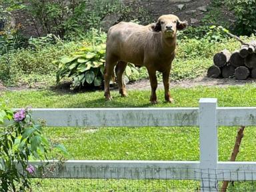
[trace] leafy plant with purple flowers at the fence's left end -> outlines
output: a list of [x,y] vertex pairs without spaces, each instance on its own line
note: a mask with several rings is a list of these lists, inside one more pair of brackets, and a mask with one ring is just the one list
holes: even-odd
[[[8,126],[5,121],[11,121]],[[29,109],[11,111],[0,103],[0,192],[31,189],[37,168],[29,160],[47,159],[51,149],[41,125],[31,118]]]

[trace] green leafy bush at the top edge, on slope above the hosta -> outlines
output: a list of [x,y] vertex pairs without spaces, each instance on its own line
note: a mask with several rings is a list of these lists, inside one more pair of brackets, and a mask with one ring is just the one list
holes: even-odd
[[82,36],[87,29],[99,28],[106,15],[118,13],[121,7],[119,0],[31,0],[27,5],[28,12],[41,23],[45,33],[61,39]]

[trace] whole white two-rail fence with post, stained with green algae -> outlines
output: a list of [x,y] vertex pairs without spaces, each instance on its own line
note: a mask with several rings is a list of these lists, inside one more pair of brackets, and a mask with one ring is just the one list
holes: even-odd
[[217,107],[205,98],[189,108],[33,109],[33,118],[51,127],[200,127],[200,161],[70,160],[47,178],[193,179],[201,191],[217,191],[218,181],[256,180],[255,162],[218,161],[217,139],[217,126],[256,125],[256,107]]

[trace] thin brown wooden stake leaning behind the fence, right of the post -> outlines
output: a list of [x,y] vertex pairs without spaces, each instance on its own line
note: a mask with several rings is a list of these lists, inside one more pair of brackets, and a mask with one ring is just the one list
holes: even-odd
[[[235,161],[237,154],[239,153],[239,147],[241,145],[241,141],[243,138],[243,130],[245,130],[245,126],[241,126],[239,131],[237,131],[237,139],[235,140],[235,146],[234,146],[230,161]],[[228,185],[229,185],[229,181],[223,181],[221,192],[226,192]]]

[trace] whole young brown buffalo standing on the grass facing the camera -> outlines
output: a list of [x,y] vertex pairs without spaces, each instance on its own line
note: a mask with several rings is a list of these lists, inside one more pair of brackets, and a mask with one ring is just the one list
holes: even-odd
[[156,71],[163,73],[165,101],[172,102],[169,93],[169,74],[171,63],[175,57],[177,45],[176,33],[187,27],[186,22],[179,21],[175,15],[162,15],[157,23],[143,26],[136,23],[120,22],[109,29],[107,35],[107,51],[105,63],[105,99],[111,100],[109,80],[115,72],[119,93],[126,97],[123,84],[123,72],[127,62],[137,66],[145,66],[149,72],[151,83],[151,103],[157,103]]

